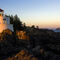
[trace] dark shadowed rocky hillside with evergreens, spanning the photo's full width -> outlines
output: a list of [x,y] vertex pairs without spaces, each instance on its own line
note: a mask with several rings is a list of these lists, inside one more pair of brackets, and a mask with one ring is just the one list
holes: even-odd
[[[10,19],[14,32],[6,29],[0,33],[0,60],[60,60],[59,32],[27,27],[17,15]],[[18,39],[15,32],[20,30],[26,31],[30,39]]]

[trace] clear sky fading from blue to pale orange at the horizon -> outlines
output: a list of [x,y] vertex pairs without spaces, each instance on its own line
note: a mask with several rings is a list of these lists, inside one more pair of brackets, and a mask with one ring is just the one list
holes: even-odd
[[60,27],[60,0],[0,0],[0,8],[7,15],[17,14],[28,26]]

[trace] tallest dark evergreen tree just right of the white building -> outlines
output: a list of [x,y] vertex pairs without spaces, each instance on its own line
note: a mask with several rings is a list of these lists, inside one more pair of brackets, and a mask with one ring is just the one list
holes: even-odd
[[23,29],[22,22],[20,21],[20,19],[17,15],[14,16],[13,27],[14,27],[15,32],[16,32],[16,30],[22,30]]

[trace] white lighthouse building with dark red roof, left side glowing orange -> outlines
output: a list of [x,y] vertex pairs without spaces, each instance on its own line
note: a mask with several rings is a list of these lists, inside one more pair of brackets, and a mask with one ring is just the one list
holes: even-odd
[[10,24],[10,17],[4,15],[4,10],[0,9],[0,33],[5,29],[13,31],[13,25]]

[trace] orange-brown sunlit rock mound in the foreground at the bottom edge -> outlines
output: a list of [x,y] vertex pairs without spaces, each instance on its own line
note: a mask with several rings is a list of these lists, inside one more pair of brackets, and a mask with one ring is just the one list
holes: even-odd
[[21,50],[15,56],[5,60],[38,60],[38,58],[34,57],[32,54],[29,54],[27,50]]

